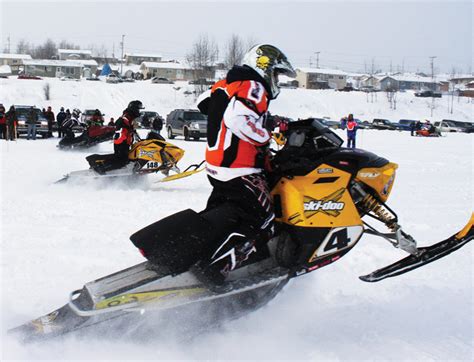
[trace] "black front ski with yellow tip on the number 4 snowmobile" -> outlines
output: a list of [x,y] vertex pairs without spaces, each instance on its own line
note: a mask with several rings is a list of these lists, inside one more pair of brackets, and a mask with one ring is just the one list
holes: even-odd
[[417,248],[415,255],[409,255],[391,265],[368,275],[360,276],[364,282],[378,282],[417,269],[460,249],[474,239],[474,213],[466,226],[457,234],[428,247]]

